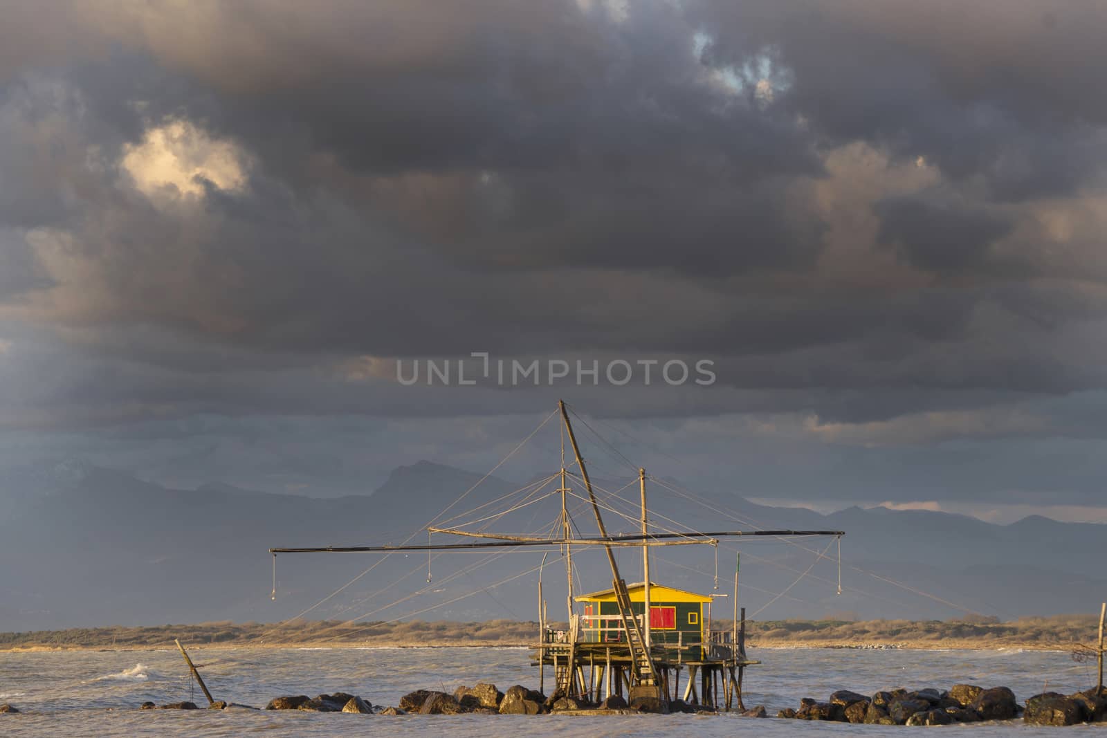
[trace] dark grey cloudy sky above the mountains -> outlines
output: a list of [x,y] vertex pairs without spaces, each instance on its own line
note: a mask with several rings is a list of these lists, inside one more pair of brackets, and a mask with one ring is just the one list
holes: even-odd
[[[0,469],[358,491],[565,396],[759,500],[1107,521],[1103,3],[2,10]],[[472,352],[716,381],[397,382]]]

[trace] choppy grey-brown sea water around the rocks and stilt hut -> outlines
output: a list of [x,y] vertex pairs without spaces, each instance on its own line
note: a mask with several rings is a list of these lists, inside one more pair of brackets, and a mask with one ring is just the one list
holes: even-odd
[[[190,649],[216,699],[263,707],[280,695],[346,692],[374,705],[396,705],[414,689],[453,692],[492,682],[538,687],[525,648],[199,648]],[[1070,693],[1095,684],[1095,665],[1063,652],[859,651],[759,648],[764,662],[746,673],[745,704],[770,715],[825,700],[835,689],[871,694],[956,683],[1007,686],[1020,700],[1045,689]],[[547,679],[549,674],[547,674]],[[685,677],[686,678],[686,677]],[[682,679],[683,688],[683,679]],[[549,682],[547,680],[547,689]],[[527,738],[587,736],[902,736],[917,728],[743,718],[737,715],[402,716],[293,710],[139,710],[192,700],[206,705],[175,649],[0,653],[0,703],[22,710],[0,715],[0,736],[288,736],[456,735]],[[941,735],[1103,736],[1107,724],[1033,728],[1021,721],[943,727]]]

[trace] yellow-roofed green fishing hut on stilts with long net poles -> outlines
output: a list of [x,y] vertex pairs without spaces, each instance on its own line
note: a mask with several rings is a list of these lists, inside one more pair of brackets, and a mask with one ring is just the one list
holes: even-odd
[[[711,628],[711,596],[660,585],[650,580],[650,549],[659,545],[717,547],[718,539],[732,537],[794,538],[803,536],[841,537],[832,530],[751,530],[716,532],[656,532],[651,530],[646,508],[645,469],[638,470],[641,497],[640,532],[611,534],[600,511],[600,502],[581,456],[580,446],[563,402],[558,402],[556,415],[562,422],[561,469],[547,480],[558,479],[561,512],[555,526],[560,534],[547,537],[489,533],[462,530],[461,526],[427,526],[428,533],[448,533],[476,541],[465,543],[427,543],[425,545],[355,545],[324,548],[269,549],[275,561],[278,553],[394,553],[400,551],[473,551],[496,548],[560,549],[565,554],[568,583],[569,630],[548,627],[546,602],[539,574],[539,641],[534,646],[532,663],[539,668],[540,690],[545,690],[546,667],[552,667],[555,686],[565,695],[597,703],[612,695],[643,708],[668,711],[672,700],[681,698],[714,709],[742,708],[742,682],[745,667],[759,662],[746,657],[745,609],[737,605],[738,574],[734,576],[733,624],[728,630]],[[549,417],[554,417],[551,414]],[[547,418],[547,420],[549,419]],[[545,424],[545,422],[544,422]],[[541,426],[539,426],[541,427]],[[534,435],[534,434],[531,434]],[[573,464],[566,464],[563,438],[568,437]],[[525,441],[524,441],[525,443]],[[513,451],[514,453],[514,451]],[[576,471],[570,471],[576,466]],[[567,496],[579,482],[596,519],[598,534],[584,537],[573,532]],[[469,490],[472,491],[472,489]],[[464,495],[463,495],[464,497]],[[455,501],[456,503],[456,501]],[[529,502],[528,502],[529,505]],[[453,506],[451,506],[453,507]],[[608,508],[610,509],[610,508]],[[448,510],[448,508],[447,508]],[[495,518],[487,516],[482,520]],[[411,540],[411,539],[408,539]],[[572,549],[601,548],[607,554],[611,586],[607,590],[573,596]],[[615,561],[613,550],[622,547],[642,551],[642,582],[628,585]],[[544,558],[545,563],[545,558]],[[540,571],[540,567],[539,567]],[[430,582],[430,578],[427,579]],[[645,615],[649,613],[649,616]],[[587,669],[587,671],[586,671]],[[681,679],[684,675],[684,689]],[[720,689],[723,699],[720,699]]]

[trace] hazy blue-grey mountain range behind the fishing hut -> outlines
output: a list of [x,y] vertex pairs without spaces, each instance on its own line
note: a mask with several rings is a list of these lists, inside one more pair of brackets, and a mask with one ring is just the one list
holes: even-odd
[[[421,461],[395,469],[372,495],[317,499],[221,484],[169,489],[74,462],[0,477],[0,631],[291,617],[382,557],[281,555],[272,601],[268,548],[402,543],[410,537],[412,542],[426,542],[421,528],[479,479],[480,475]],[[617,490],[629,481],[597,480],[597,485]],[[679,489],[666,480],[649,487],[659,530],[676,529],[672,522],[676,520],[693,530],[757,526],[846,531],[840,595],[831,540],[742,542],[739,600],[751,615],[790,586],[757,615],[762,619],[831,614],[950,619],[965,611],[1006,619],[1090,611],[1107,593],[1103,563],[1107,527],[1100,524],[1030,517],[996,526],[958,514],[883,508],[849,508],[824,516],[754,505],[724,490],[700,491],[690,499],[666,486]],[[524,500],[527,490],[511,497],[517,487],[490,477],[444,518],[482,505],[486,507],[466,519],[490,516]],[[535,492],[530,505],[503,519],[479,524],[503,532],[548,532],[559,509],[554,488]],[[601,491],[608,507],[606,522],[613,531],[631,531],[637,485],[621,496],[625,501]],[[498,498],[505,499],[494,502]],[[576,497],[570,502],[581,533],[594,533],[590,510]],[[717,569],[711,547],[654,549],[652,578],[730,595],[733,549],[730,540],[720,545]],[[826,558],[816,562],[816,553],[824,549]],[[416,616],[424,620],[537,617],[537,572],[496,583],[538,567],[540,552],[438,555],[430,564],[430,584],[427,558],[392,554],[306,616],[366,615],[369,621],[383,621],[423,611]],[[621,551],[619,560],[625,579],[641,579],[637,549]],[[478,569],[462,571],[478,562],[484,562]],[[577,586],[584,591],[610,586],[602,554],[578,550],[573,562]],[[422,590],[426,591],[420,594]],[[556,552],[547,559],[544,590],[551,617],[562,617],[565,569]],[[465,596],[469,593],[476,594]],[[393,604],[396,601],[401,602]],[[727,615],[733,603],[717,602]]]

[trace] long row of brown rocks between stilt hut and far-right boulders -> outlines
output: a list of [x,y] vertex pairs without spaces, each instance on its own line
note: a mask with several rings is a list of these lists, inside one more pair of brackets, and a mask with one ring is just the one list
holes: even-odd
[[891,689],[871,697],[839,689],[827,701],[805,698],[799,709],[784,709],[777,717],[832,720],[869,725],[951,725],[981,720],[1010,720],[1022,713],[1007,687],[984,689],[956,684],[949,690]]

